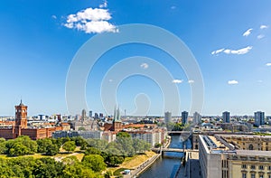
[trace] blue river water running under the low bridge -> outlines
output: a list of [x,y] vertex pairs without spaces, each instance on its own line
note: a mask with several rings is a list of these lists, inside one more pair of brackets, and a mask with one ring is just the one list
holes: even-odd
[[[169,147],[182,148],[182,137],[172,136],[172,142]],[[188,140],[184,143],[186,148],[191,148],[192,144]],[[140,174],[140,178],[173,178],[180,164],[182,153],[164,153],[164,156],[158,158],[144,173]]]

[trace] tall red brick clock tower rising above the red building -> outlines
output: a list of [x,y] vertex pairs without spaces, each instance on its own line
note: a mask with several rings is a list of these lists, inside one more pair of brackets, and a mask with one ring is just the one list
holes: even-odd
[[14,138],[21,136],[22,128],[27,128],[27,106],[24,106],[21,100],[20,105],[15,106],[15,109]]

